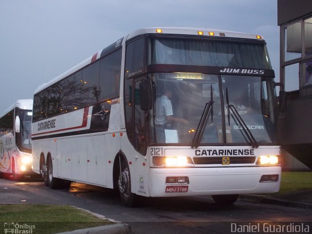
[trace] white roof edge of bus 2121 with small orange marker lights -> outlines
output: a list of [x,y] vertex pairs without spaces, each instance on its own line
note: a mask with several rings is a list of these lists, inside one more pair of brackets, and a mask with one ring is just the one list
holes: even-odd
[[[157,32],[158,29],[161,29],[161,33]],[[202,32],[202,37],[218,37],[218,38],[241,38],[241,39],[261,39],[264,40],[262,36],[255,35],[255,34],[247,34],[247,33],[239,33],[234,31],[228,31],[228,30],[219,30],[219,29],[207,29],[207,28],[182,28],[182,27],[159,27],[159,28],[143,28],[138,29],[122,39],[132,39],[139,35],[144,34],[173,34],[173,35],[194,35],[199,36],[199,32]],[[214,33],[214,35],[210,35],[209,33]],[[257,38],[258,37],[258,38]],[[116,42],[114,42],[112,45],[115,46]],[[104,49],[103,49],[104,50]],[[93,62],[96,59],[99,59],[101,52],[94,54],[93,56],[90,56],[88,59],[83,60],[82,62],[78,63],[76,66],[72,67],[71,69],[67,70],[66,72],[60,74],[58,77],[50,80],[47,83],[41,84],[35,91],[35,94],[39,93],[43,89],[49,87],[50,85],[56,83],[57,81],[66,78],[70,76],[71,74],[75,73],[79,69],[87,66],[91,62]]]

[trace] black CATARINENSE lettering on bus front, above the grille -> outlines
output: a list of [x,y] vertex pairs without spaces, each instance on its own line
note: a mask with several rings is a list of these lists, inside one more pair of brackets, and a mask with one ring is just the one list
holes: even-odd
[[254,149],[195,150],[195,156],[251,156]]

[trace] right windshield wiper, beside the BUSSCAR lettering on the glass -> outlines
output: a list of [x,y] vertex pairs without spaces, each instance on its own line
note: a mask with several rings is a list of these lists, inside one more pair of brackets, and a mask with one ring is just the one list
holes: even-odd
[[229,122],[229,126],[230,126],[230,110],[231,110],[232,113],[233,113],[233,116],[236,118],[236,120],[238,121],[240,126],[242,126],[242,129],[243,129],[245,135],[247,136],[247,138],[249,139],[250,143],[252,144],[253,148],[258,148],[259,144],[256,141],[256,139],[254,138],[252,132],[249,130],[246,122],[240,116],[240,114],[238,113],[238,111],[236,110],[234,105],[229,103],[228,88],[226,88],[226,101],[227,101],[227,106],[228,106],[228,122]]

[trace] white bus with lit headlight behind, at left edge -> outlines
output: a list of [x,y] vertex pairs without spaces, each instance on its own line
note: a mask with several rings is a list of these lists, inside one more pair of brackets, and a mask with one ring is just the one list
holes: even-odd
[[32,171],[33,100],[17,100],[0,115],[0,173],[19,179]]

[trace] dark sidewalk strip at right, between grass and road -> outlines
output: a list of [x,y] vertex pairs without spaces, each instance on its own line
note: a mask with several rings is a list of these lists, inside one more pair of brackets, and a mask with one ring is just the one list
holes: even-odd
[[312,190],[283,195],[240,195],[241,200],[312,210]]

